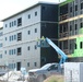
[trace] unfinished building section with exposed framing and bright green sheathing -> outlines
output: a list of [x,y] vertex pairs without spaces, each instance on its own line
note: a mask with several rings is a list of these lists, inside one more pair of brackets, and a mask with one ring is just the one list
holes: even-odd
[[69,61],[83,61],[83,0],[59,4],[59,47]]

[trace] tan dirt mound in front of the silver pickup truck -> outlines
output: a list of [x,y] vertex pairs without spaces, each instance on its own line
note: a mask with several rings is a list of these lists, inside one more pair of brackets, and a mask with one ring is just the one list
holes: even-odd
[[51,75],[47,78],[44,82],[64,82],[63,75]]

